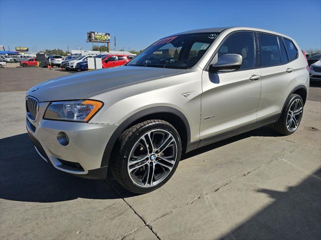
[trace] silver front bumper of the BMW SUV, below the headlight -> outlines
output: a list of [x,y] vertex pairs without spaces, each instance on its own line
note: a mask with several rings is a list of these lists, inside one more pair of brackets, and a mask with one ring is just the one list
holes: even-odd
[[[35,121],[26,119],[28,134],[39,155],[66,173],[91,179],[106,178],[107,166],[101,166],[102,157],[118,125],[46,120],[42,116],[48,105],[39,104]],[[61,132],[69,138],[66,146],[58,140]]]

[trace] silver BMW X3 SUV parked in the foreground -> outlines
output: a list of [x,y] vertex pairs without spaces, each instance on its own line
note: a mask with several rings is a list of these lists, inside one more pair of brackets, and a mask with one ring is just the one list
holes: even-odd
[[293,39],[201,29],[160,39],[124,66],[31,88],[26,124],[55,168],[94,179],[110,171],[145,193],[171,178],[182,153],[264,125],[295,132],[308,85]]

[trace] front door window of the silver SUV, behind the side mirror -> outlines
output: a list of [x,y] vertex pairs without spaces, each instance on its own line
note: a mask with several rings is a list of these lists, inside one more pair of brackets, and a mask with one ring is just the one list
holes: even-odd
[[229,36],[219,48],[218,58],[223,54],[239,54],[242,56],[240,69],[250,69],[254,68],[254,52],[254,34],[235,33]]

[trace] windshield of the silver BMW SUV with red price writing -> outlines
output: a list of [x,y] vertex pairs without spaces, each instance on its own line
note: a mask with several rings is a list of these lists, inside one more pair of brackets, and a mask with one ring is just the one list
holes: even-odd
[[219,33],[198,33],[158,40],[131,60],[128,66],[187,69],[193,67]]

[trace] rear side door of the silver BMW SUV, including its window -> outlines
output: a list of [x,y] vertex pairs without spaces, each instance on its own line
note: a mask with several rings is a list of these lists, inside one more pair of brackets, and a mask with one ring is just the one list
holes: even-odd
[[[277,118],[288,93],[294,88],[296,73],[289,62],[282,37],[258,33],[262,92],[258,106],[258,120]],[[293,46],[294,47],[294,46]]]

